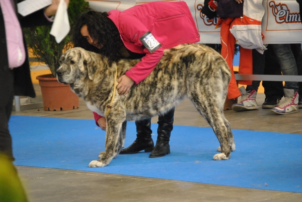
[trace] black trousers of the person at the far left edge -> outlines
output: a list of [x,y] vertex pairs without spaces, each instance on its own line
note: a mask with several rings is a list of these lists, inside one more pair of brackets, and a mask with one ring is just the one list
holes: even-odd
[[14,100],[14,73],[0,66],[0,153],[14,161],[9,120]]

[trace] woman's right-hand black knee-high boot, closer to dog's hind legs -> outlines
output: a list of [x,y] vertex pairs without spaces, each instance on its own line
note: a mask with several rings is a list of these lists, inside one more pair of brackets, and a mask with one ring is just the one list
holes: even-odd
[[170,154],[170,136],[173,130],[174,108],[167,114],[159,116],[158,139],[155,149],[149,155],[150,158],[163,157]]

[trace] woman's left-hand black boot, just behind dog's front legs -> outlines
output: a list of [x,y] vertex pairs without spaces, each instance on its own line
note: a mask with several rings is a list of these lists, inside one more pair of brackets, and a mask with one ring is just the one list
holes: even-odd
[[135,154],[144,150],[145,152],[152,152],[154,149],[154,142],[151,138],[152,130],[151,118],[135,121],[136,125],[136,140],[129,147],[122,149],[119,154]]

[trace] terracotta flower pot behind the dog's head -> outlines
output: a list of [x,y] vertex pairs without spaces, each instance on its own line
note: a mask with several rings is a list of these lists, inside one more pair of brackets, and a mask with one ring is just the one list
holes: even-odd
[[40,75],[36,78],[41,86],[45,111],[64,111],[79,108],[79,97],[69,85],[61,84],[51,75]]

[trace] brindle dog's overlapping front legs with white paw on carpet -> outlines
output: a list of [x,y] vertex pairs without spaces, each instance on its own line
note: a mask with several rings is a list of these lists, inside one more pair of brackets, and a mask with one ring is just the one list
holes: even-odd
[[111,110],[107,116],[105,153],[100,160],[90,162],[89,167],[104,167],[117,156],[122,148],[126,130],[126,113]]

